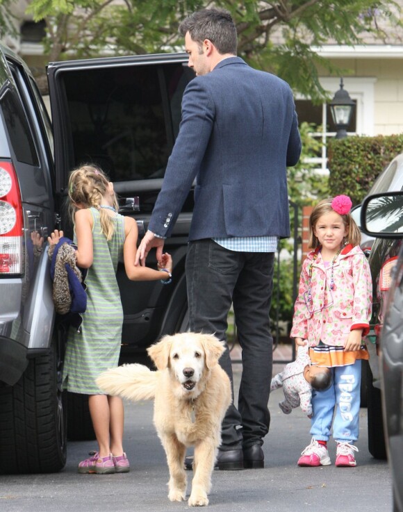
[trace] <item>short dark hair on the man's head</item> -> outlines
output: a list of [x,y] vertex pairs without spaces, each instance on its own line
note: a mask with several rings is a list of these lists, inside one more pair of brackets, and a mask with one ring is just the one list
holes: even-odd
[[200,47],[205,39],[210,40],[222,55],[236,55],[238,44],[236,26],[229,11],[224,9],[202,9],[191,14],[179,25],[179,33],[189,33]]

